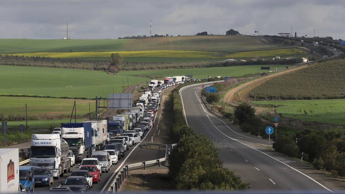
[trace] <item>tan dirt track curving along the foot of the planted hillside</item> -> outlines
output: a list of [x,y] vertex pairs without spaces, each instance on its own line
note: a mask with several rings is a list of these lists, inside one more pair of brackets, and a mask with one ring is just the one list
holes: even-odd
[[303,67],[298,67],[298,68],[295,68],[295,69],[290,69],[290,70],[286,70],[286,71],[283,71],[283,72],[279,72],[277,74],[273,74],[273,75],[269,75],[269,76],[265,76],[265,77],[262,77],[262,78],[258,78],[258,79],[255,79],[253,81],[249,81],[248,83],[245,83],[245,84],[242,84],[230,91],[228,91],[225,96],[224,96],[224,102],[228,103],[228,104],[231,104],[231,105],[236,105],[236,102],[233,101],[233,98],[234,98],[234,95],[237,91],[239,91],[240,89],[250,85],[250,84],[253,84],[253,83],[258,83],[258,82],[261,82],[263,80],[267,81],[273,77],[277,77],[277,76],[280,76],[280,75],[284,75],[284,74],[288,74],[290,72],[293,72],[293,71],[296,71],[298,69],[302,69],[302,68],[305,68],[306,66],[303,66]]

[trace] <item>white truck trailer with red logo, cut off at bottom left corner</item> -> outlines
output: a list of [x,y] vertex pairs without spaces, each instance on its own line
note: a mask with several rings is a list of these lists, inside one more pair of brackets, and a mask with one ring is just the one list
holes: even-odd
[[18,193],[19,188],[19,150],[0,149],[0,193]]

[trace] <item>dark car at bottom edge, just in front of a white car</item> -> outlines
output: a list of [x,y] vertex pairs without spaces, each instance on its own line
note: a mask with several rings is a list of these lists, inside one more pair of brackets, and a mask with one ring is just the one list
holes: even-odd
[[90,185],[84,176],[69,176],[60,186],[69,187],[73,192],[85,193],[90,191]]

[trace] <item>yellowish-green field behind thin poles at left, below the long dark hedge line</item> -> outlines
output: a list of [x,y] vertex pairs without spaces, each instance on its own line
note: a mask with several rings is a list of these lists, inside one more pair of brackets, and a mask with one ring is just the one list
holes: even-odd
[[[5,116],[8,114],[25,116],[25,104],[27,104],[29,117],[54,117],[70,116],[75,99],[0,96],[0,101],[0,114]],[[76,114],[89,113],[89,103],[91,111],[95,111],[95,100],[76,99]]]

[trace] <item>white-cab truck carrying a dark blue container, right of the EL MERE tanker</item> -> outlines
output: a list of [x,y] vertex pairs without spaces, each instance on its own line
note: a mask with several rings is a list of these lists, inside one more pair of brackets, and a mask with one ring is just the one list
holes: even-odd
[[76,161],[88,158],[92,153],[91,123],[61,123],[61,137],[68,143],[69,149],[76,156]]

